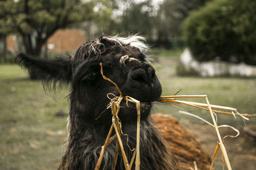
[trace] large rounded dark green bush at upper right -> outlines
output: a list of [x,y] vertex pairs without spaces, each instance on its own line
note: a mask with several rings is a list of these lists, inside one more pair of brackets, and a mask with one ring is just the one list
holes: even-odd
[[255,9],[255,0],[216,0],[192,12],[184,36],[195,59],[256,65]]

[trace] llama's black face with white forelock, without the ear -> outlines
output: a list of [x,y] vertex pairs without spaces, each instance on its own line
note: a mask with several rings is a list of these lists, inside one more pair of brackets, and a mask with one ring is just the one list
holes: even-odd
[[[132,41],[138,41],[138,39],[132,39]],[[156,101],[161,95],[161,85],[155,69],[148,64],[145,53],[141,52],[138,46],[131,46],[131,44],[131,41],[125,44],[118,38],[102,37],[81,46],[72,57],[73,94],[76,97],[79,96],[76,102],[79,104],[87,102],[90,106],[85,107],[84,110],[93,108],[90,113],[95,115],[90,117],[95,119],[106,109],[109,93],[119,96],[116,87],[102,78],[100,62],[102,62],[104,75],[118,85],[123,96],[131,96],[141,101],[142,118],[150,113],[151,102]],[[136,120],[134,104],[127,106],[124,102],[121,106],[120,117],[123,121]],[[134,113],[134,115],[127,116],[127,113]],[[88,117],[85,119],[90,120]]]

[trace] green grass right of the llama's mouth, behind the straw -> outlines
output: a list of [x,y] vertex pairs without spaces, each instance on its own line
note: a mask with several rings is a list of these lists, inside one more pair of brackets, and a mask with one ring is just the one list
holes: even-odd
[[[195,78],[173,76],[173,78],[161,79],[160,81],[163,87],[163,96],[175,94],[175,92],[177,92],[179,89],[182,89],[179,94],[207,94],[211,104],[237,108],[240,113],[256,113],[255,79]],[[193,98],[188,101],[205,103],[205,99],[202,98]],[[175,106],[168,103],[156,103],[154,111],[172,115],[178,119],[187,119],[190,122],[200,123],[196,118],[178,113],[180,108],[183,108],[184,111],[194,113],[195,115],[203,117],[209,120],[209,122],[212,122],[209,111],[184,106],[183,104],[175,104]],[[233,117],[227,115],[218,115],[218,122],[220,124],[230,124],[236,126],[243,125],[241,118],[238,117],[237,119],[234,119]],[[255,124],[256,118],[251,118],[250,122],[246,123]]]

